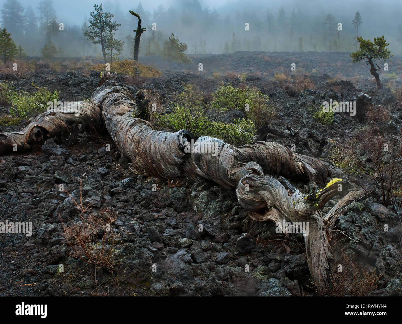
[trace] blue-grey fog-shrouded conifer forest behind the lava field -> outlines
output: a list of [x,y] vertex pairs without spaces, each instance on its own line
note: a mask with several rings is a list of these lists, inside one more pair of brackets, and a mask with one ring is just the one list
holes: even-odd
[[[133,52],[137,21],[129,10],[139,14],[142,26],[147,28],[142,35],[140,56],[159,55],[171,33],[187,44],[186,54],[241,50],[352,52],[356,50],[356,35],[368,38],[377,33],[385,35],[392,52],[402,51],[398,2],[389,2],[381,10],[370,2],[348,5],[283,1],[269,6],[268,2],[249,5],[239,1],[211,6],[188,0],[170,4],[106,1],[102,5],[120,24],[114,32],[114,38],[123,45],[120,58],[129,58]],[[55,46],[54,56],[100,56],[100,45],[92,44],[83,35],[93,4],[72,1],[71,6],[74,14],[66,17],[66,11],[52,0],[6,0],[1,6],[1,27],[11,33],[28,56],[41,56],[43,46],[49,42]],[[358,30],[353,24],[356,12],[362,21]]]

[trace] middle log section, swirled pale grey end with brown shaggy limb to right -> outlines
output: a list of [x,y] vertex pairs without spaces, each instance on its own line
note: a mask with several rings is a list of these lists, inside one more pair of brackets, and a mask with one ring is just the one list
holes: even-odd
[[302,182],[324,183],[332,173],[325,162],[300,154],[274,142],[252,142],[234,147],[223,140],[201,136],[191,149],[185,174],[195,180],[204,177],[224,186],[236,188],[248,174],[283,175]]

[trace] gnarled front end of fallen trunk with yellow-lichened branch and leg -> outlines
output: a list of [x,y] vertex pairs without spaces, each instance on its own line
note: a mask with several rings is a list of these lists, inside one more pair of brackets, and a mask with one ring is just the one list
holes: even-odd
[[[339,187],[339,185],[342,187]],[[257,221],[274,221],[285,233],[284,223],[307,223],[308,233],[304,233],[308,266],[314,281],[321,289],[328,285],[328,261],[331,258],[330,244],[326,236],[324,218],[317,210],[338,194],[345,194],[348,184],[336,179],[324,189],[308,195],[295,190],[291,196],[285,187],[272,177],[248,175],[238,184],[237,197],[248,215]],[[341,191],[338,189],[341,188]]]

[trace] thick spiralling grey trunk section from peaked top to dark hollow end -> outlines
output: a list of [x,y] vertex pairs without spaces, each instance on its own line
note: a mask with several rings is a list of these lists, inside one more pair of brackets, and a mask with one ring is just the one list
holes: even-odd
[[[181,178],[186,157],[185,143],[193,136],[187,130],[175,133],[156,130],[146,120],[147,101],[117,81],[117,73],[105,72],[91,100],[102,106],[106,129],[133,167],[159,178]],[[145,103],[144,103],[145,101]]]

